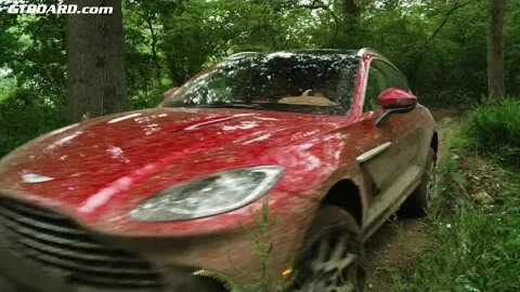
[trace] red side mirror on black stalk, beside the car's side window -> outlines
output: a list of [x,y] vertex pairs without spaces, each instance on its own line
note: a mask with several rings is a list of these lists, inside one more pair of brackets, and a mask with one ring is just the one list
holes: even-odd
[[377,127],[381,127],[390,115],[412,111],[417,105],[417,97],[412,94],[412,92],[398,88],[389,88],[385,90],[379,94],[378,98],[379,104],[385,111],[377,119]]

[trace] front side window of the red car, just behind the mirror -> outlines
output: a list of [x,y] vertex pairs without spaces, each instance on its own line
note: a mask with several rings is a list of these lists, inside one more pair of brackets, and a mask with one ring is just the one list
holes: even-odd
[[389,88],[410,90],[408,84],[401,72],[384,61],[374,59],[370,62],[370,67],[368,69],[363,111],[369,111],[377,108],[379,106],[377,97],[382,91]]

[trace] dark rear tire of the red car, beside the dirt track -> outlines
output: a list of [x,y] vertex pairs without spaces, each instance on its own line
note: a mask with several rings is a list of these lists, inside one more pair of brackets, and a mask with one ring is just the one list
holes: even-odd
[[425,216],[428,213],[428,208],[431,204],[431,199],[434,197],[434,168],[435,152],[432,148],[429,148],[428,159],[426,160],[426,168],[422,177],[420,178],[420,184],[401,205],[398,212],[400,216],[418,218]]

